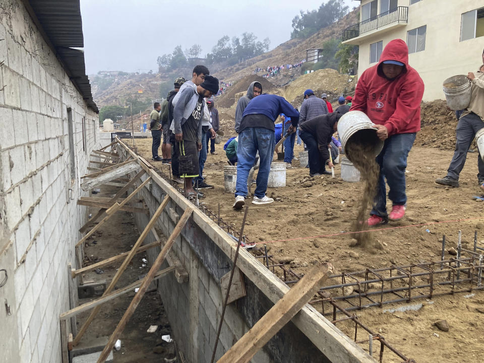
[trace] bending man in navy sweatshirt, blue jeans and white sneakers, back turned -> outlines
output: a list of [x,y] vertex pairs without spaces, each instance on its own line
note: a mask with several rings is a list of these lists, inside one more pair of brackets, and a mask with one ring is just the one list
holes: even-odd
[[252,203],[274,202],[274,199],[266,196],[266,190],[275,147],[274,122],[281,113],[291,118],[292,125],[289,130],[295,131],[299,112],[281,96],[263,94],[253,98],[245,108],[238,129],[237,181],[233,208],[240,209],[245,204],[248,194],[247,178],[254,165],[257,151],[260,165]]

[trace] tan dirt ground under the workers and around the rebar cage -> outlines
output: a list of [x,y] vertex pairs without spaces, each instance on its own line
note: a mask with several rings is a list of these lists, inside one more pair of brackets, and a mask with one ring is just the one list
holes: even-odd
[[[224,138],[228,137],[226,134]],[[137,141],[137,146],[139,153],[148,159],[151,140]],[[243,212],[232,208],[234,196],[224,191],[223,166],[227,163],[222,146],[223,142],[216,145],[218,155],[208,156],[204,174],[207,183],[215,188],[203,190],[205,198],[201,201],[213,211],[217,211],[220,204],[221,217],[238,227]],[[302,147],[296,145],[295,156],[299,151]],[[482,194],[476,178],[477,153],[468,154],[460,175],[460,188],[434,183],[435,178],[446,174],[452,154],[452,151],[433,147],[413,147],[406,170],[407,213],[401,221],[384,226],[388,229],[372,233],[382,247],[380,251],[350,247],[351,236],[339,234],[349,231],[362,190],[361,182],[346,183],[339,178],[339,164],[335,168],[335,179],[331,175],[310,178],[309,169],[300,168],[299,162],[293,160],[293,168],[286,170],[286,187],[267,191],[275,202],[266,206],[250,205],[245,232],[252,242],[266,245],[276,261],[292,258],[290,267],[298,273],[323,261],[331,262],[339,273],[438,261],[442,235],[446,235],[449,248],[456,247],[459,229],[464,248],[472,248],[474,230],[478,233],[478,246],[484,247],[484,204],[472,200],[472,196]],[[161,163],[153,163],[160,167]],[[461,219],[468,220],[447,222]],[[435,224],[413,226],[422,223]],[[484,351],[484,343],[476,338],[484,335],[484,326],[482,315],[475,307],[484,302],[484,293],[477,291],[469,298],[462,294],[441,296],[433,301],[434,304],[416,312],[383,313],[385,309],[398,306],[388,305],[384,309],[366,309],[356,315],[374,331],[382,329],[381,334],[390,344],[417,362],[453,362],[456,356],[462,361],[476,361],[476,356]],[[439,319],[447,319],[449,332],[436,330],[433,322]],[[345,324],[340,323],[338,327],[347,330],[349,336],[354,334],[354,325],[346,329]],[[367,345],[362,347],[367,348]],[[379,348],[374,350],[374,356],[378,357]],[[387,352],[384,361],[400,360]]]

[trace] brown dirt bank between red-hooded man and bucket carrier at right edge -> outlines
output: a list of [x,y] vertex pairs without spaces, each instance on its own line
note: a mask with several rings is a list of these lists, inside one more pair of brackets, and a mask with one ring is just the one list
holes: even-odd
[[424,102],[421,104],[422,129],[417,133],[414,145],[454,150],[456,126],[455,112],[444,100]]

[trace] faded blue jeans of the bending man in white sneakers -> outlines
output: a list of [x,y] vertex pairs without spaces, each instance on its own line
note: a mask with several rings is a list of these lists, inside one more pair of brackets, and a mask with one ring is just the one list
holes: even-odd
[[256,153],[259,151],[260,165],[254,195],[264,198],[275,146],[274,131],[269,129],[247,128],[238,134],[235,196],[247,197],[247,178],[256,160]]

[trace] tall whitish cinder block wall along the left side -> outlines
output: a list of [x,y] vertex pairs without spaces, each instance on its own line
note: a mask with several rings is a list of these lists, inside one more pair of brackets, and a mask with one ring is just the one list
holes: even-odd
[[70,308],[67,264],[86,219],[76,201],[98,115],[20,0],[0,4],[0,64],[0,361],[60,362],[58,315]]

